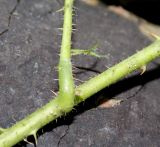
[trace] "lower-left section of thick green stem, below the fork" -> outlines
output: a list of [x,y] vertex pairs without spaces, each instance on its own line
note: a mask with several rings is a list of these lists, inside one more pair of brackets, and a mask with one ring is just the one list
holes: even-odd
[[11,147],[30,135],[37,140],[36,133],[40,128],[64,114],[57,100],[58,97],[22,121],[5,129],[0,135],[0,147]]

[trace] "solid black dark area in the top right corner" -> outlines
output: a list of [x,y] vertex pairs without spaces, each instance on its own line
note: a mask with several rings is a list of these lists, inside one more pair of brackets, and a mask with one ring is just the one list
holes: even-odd
[[101,0],[110,5],[120,5],[125,9],[153,23],[160,23],[159,0]]

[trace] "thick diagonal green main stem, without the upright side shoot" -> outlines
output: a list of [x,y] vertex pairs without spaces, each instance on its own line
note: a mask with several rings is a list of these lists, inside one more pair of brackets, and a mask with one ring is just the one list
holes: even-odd
[[[84,101],[101,89],[117,82],[130,72],[139,69],[148,62],[160,56],[160,40],[156,40],[150,46],[134,54],[128,59],[116,64],[100,75],[90,79],[75,89],[75,104]],[[11,128],[4,130],[0,135],[0,147],[10,147],[23,140],[29,135],[35,135],[38,129],[66,113],[67,106],[62,108],[56,97],[48,104],[38,109],[22,121],[17,122]]]

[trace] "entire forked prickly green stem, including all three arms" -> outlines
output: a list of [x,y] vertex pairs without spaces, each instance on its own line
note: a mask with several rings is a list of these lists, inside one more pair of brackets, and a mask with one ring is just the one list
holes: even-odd
[[[65,0],[64,26],[59,62],[59,95],[10,128],[0,128],[0,147],[11,147],[33,135],[49,122],[65,115],[78,103],[117,82],[160,56],[160,39],[128,59],[90,79],[74,90],[70,61],[73,0]],[[75,95],[76,94],[76,95]]]

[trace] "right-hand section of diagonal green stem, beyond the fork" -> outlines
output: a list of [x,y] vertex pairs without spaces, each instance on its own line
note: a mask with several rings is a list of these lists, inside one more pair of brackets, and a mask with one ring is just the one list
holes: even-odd
[[[140,69],[153,59],[160,56],[160,39],[157,39],[150,46],[123,60],[119,64],[109,68],[105,72],[90,79],[76,89],[76,95],[80,102],[92,96],[98,91],[119,81],[129,73]],[[85,91],[84,91],[85,90]]]

